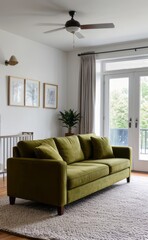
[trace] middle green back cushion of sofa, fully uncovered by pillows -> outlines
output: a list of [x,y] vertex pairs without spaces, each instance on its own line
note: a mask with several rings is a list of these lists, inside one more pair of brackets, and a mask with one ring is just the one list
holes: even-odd
[[55,138],[59,153],[67,164],[84,160],[80,142],[77,136]]

